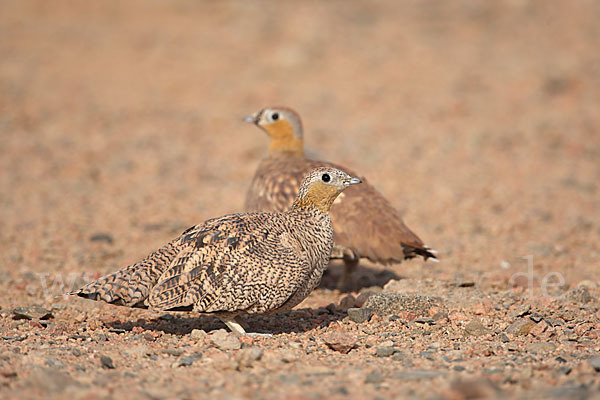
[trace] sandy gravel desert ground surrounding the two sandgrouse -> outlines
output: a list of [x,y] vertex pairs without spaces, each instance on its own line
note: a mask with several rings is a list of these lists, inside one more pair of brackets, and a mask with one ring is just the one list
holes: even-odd
[[[0,3],[0,397],[600,398],[600,3]],[[241,209],[267,141],[440,252],[217,319],[62,294]]]

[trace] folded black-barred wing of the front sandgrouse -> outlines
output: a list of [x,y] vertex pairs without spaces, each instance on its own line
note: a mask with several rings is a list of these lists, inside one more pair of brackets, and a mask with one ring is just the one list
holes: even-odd
[[280,307],[307,279],[310,265],[275,214],[237,214],[198,225],[152,289],[159,310],[265,312]]

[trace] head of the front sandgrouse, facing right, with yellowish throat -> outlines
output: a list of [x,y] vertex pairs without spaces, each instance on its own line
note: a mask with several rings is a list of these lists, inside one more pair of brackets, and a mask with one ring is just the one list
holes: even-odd
[[333,201],[348,186],[361,180],[331,167],[315,168],[304,175],[292,209],[316,208],[328,213]]

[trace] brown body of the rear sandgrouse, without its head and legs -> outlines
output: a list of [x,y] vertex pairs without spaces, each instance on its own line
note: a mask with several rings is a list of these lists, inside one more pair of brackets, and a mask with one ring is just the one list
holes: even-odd
[[364,177],[333,163],[298,157],[265,158],[248,191],[246,209],[288,209],[304,174],[322,166],[341,169],[363,181],[346,189],[333,203],[331,219],[336,245],[384,264],[416,255],[425,259],[436,258],[435,252],[404,224],[396,209]]

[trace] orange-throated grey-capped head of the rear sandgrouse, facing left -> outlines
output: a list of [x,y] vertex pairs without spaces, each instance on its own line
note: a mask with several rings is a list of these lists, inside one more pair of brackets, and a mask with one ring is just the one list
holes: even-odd
[[269,135],[270,153],[304,155],[304,139],[300,116],[286,107],[263,108],[244,118]]

